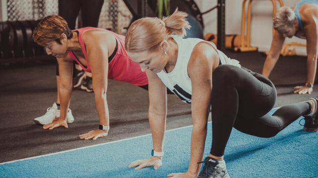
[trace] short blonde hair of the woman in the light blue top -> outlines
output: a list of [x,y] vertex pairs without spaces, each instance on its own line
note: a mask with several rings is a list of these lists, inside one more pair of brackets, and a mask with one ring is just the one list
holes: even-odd
[[274,17],[274,29],[284,31],[286,28],[293,27],[296,20],[296,15],[290,7],[281,7]]

